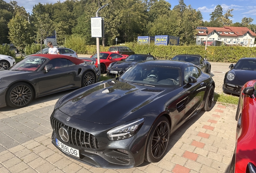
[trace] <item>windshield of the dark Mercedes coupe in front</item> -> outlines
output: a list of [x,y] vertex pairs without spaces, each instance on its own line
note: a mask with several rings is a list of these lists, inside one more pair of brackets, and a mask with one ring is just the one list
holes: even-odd
[[133,84],[180,86],[180,68],[137,64],[120,77]]

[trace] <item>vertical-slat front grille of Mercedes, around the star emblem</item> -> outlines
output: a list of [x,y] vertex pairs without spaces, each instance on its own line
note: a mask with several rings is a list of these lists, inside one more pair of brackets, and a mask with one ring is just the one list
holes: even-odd
[[81,131],[72,127],[68,127],[63,125],[56,119],[50,118],[52,129],[54,129],[55,133],[60,137],[59,129],[60,127],[67,127],[68,131],[70,132],[71,139],[67,142],[70,145],[74,145],[77,147],[89,148],[89,149],[97,149],[98,148],[98,141],[97,139],[91,134],[85,131]]

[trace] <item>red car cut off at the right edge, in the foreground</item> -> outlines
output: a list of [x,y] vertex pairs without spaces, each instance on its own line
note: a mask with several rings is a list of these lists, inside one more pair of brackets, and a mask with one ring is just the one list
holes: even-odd
[[242,87],[235,119],[236,147],[229,173],[256,173],[256,80]]

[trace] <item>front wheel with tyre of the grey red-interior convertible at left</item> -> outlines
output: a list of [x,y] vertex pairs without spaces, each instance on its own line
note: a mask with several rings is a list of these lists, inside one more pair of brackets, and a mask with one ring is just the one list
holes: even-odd
[[27,106],[33,99],[33,90],[24,82],[12,85],[6,93],[6,104],[14,108]]

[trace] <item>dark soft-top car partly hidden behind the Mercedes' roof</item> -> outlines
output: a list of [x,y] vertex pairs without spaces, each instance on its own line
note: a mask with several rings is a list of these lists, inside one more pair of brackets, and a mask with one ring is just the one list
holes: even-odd
[[202,58],[200,55],[196,54],[179,54],[171,58],[172,60],[180,60],[180,61],[186,61],[191,62],[193,64],[196,64],[198,68],[200,68],[203,72],[206,72],[208,74],[211,74],[211,63],[208,62],[207,59]]

